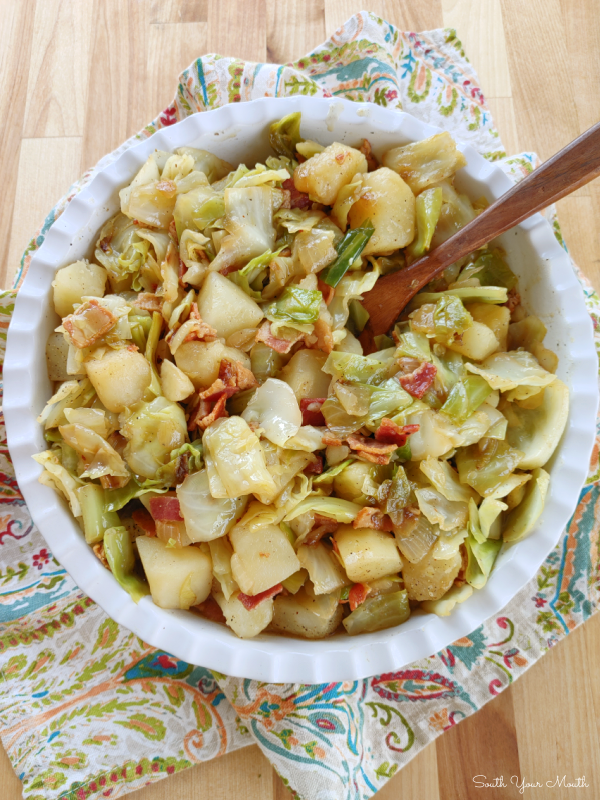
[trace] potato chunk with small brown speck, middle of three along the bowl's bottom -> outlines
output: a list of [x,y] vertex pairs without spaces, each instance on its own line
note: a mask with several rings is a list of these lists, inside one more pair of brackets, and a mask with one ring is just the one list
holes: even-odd
[[234,549],[231,572],[244,594],[260,594],[300,569],[294,548],[278,525],[255,531],[238,526],[229,538]]

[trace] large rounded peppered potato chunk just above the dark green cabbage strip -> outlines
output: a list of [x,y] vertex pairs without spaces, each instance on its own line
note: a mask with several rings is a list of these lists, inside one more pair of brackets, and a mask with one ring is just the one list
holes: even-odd
[[375,232],[363,255],[384,255],[415,238],[417,210],[410,187],[391,169],[381,167],[363,178],[360,197],[348,214],[351,228],[371,220]]

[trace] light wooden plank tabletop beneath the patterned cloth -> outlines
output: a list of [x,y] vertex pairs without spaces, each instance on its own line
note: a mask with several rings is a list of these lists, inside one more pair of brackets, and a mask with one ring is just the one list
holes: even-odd
[[[475,65],[508,152],[547,158],[600,119],[599,0],[0,0],[0,269],[82,171],[171,101],[207,52],[286,62],[367,8],[404,30],[452,26]],[[600,182],[559,205],[576,261],[600,287]],[[514,686],[421,752],[380,800],[518,798],[475,775],[529,782],[585,775],[600,797],[600,615]],[[0,797],[21,784],[3,751]],[[542,794],[543,792],[543,794]],[[539,800],[569,789],[535,789]],[[140,800],[284,800],[257,747],[143,789]]]

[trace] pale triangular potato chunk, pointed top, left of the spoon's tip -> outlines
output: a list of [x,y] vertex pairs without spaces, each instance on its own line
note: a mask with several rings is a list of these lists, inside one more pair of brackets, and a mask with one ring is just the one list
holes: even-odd
[[198,293],[203,321],[227,339],[242,328],[256,328],[263,318],[258,303],[218,272],[210,272]]

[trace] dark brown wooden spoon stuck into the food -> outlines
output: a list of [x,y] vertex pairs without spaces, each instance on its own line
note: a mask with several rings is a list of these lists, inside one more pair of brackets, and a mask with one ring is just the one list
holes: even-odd
[[518,225],[527,217],[600,175],[600,122],[509,189],[439,247],[400,272],[379,278],[365,293],[370,318],[360,339],[365,353],[373,337],[387,333],[416,293],[446,267]]

